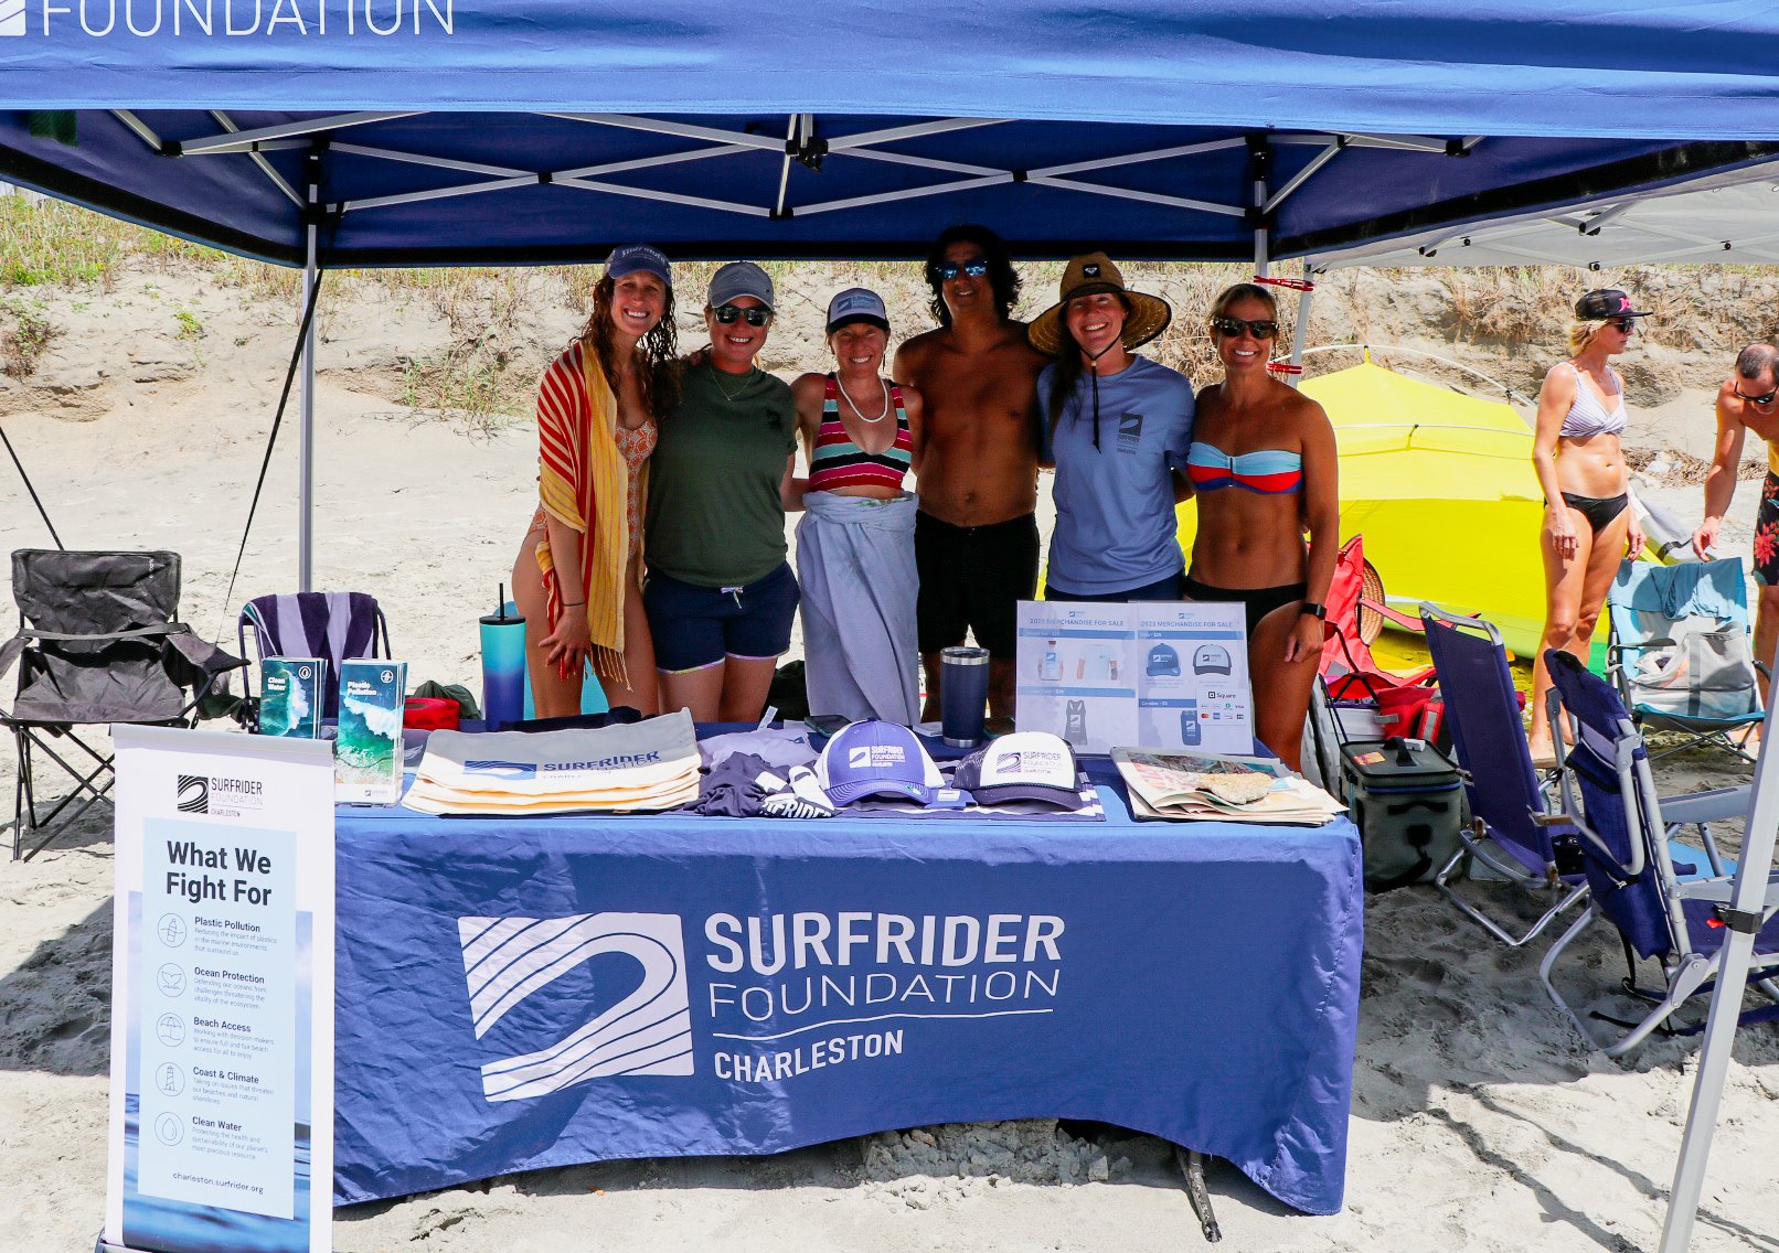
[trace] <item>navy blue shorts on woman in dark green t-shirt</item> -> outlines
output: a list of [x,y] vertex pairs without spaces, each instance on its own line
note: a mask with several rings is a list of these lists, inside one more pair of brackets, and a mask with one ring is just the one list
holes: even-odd
[[655,668],[701,670],[724,658],[767,659],[790,649],[797,576],[779,565],[745,587],[696,587],[651,572],[642,608],[655,638]]

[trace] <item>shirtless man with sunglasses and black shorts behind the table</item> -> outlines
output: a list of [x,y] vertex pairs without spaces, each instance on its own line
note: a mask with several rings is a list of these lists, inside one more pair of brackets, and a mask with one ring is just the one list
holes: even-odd
[[989,650],[989,713],[1010,718],[1018,603],[1037,592],[1037,373],[1050,359],[1009,316],[1019,275],[994,231],[946,229],[927,283],[939,329],[895,354],[895,377],[927,407],[914,464],[922,718],[939,716],[939,649],[966,629]]

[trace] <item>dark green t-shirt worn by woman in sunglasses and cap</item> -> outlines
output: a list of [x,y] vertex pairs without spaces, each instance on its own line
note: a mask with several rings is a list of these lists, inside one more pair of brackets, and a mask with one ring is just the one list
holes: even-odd
[[742,587],[785,562],[779,483],[797,450],[790,386],[715,366],[685,371],[649,460],[648,563],[694,587]]

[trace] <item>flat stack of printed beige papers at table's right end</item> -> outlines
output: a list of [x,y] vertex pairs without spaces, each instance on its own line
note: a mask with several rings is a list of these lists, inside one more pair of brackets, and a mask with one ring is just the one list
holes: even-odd
[[1139,818],[1322,823],[1345,809],[1284,764],[1263,757],[1114,748]]

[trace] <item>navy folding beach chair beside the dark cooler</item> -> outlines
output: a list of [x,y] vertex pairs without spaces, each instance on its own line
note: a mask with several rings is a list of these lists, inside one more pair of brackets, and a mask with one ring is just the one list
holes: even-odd
[[[1548,812],[1500,631],[1482,619],[1446,613],[1429,603],[1421,604],[1421,626],[1473,816],[1471,830],[1459,832],[1464,848],[1446,862],[1434,885],[1464,917],[1517,949],[1537,938],[1558,914],[1587,899],[1576,830],[1560,814]],[[1550,908],[1525,933],[1510,933],[1452,887],[1466,857],[1509,883],[1553,898]]]

